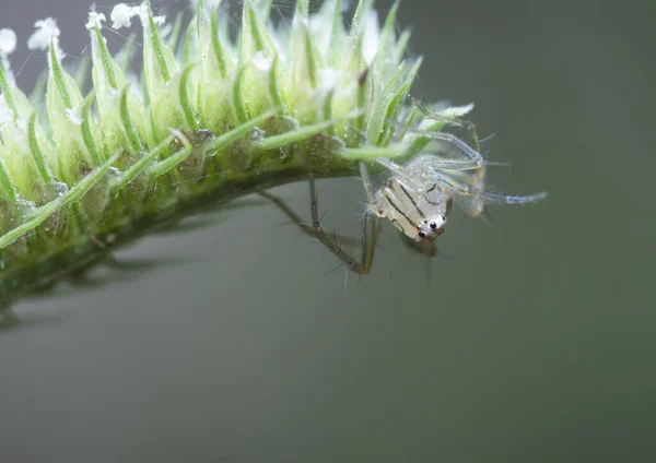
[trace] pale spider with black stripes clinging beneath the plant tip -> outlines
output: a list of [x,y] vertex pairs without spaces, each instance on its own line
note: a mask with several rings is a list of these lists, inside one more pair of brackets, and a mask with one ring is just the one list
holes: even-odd
[[[378,218],[389,219],[412,249],[434,257],[437,253],[433,241],[444,233],[454,202],[470,217],[478,217],[483,214],[487,204],[520,205],[537,203],[547,198],[547,192],[506,195],[485,191],[485,167],[495,163],[483,159],[476,124],[460,118],[472,109],[472,105],[430,111],[420,102],[413,100],[413,107],[424,114],[424,121],[434,122],[429,130],[409,130],[419,138],[420,143],[427,145],[431,141],[443,142],[448,147],[447,153],[455,149],[459,155],[454,157],[425,152],[405,164],[377,157],[374,163],[390,174],[378,190],[374,189],[366,163],[360,161],[360,175],[367,200],[360,260],[343,249],[342,242],[348,239],[321,228],[317,189],[312,171],[308,171],[311,224],[305,223],[279,197],[263,190],[259,190],[259,194],[280,207],[304,233],[324,244],[349,271],[360,275],[366,275],[372,270],[380,229]],[[435,128],[442,129],[445,126],[465,129],[469,143],[454,133],[434,131]]]

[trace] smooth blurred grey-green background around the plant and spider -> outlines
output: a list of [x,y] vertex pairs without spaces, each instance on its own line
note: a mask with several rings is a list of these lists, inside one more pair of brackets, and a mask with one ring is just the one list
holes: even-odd
[[[0,27],[24,44],[55,16],[79,56],[89,2],[0,0]],[[493,209],[494,225],[456,215],[430,273],[388,226],[345,290],[266,204],[144,239],[119,258],[153,269],[16,306],[0,461],[656,459],[656,3],[405,0],[399,14],[425,56],[412,94],[475,102],[491,158],[512,164],[491,185],[549,199]],[[32,56],[19,82],[44,67]],[[319,188],[326,223],[356,234],[360,182]],[[307,212],[304,185],[278,192]]]

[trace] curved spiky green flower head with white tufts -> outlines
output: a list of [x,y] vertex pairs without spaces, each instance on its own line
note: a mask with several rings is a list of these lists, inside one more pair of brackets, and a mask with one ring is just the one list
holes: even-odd
[[195,7],[187,32],[178,21],[167,37],[140,7],[141,79],[109,54],[104,17],[91,13],[86,96],[55,39],[45,102],[31,104],[0,68],[0,305],[162,221],[297,180],[307,164],[337,177],[359,159],[418,151],[417,136],[395,135],[412,119],[419,69],[403,61],[396,7],[380,29],[361,0],[345,27],[340,0],[315,14],[298,0],[291,23],[274,26],[270,0],[245,0],[236,41],[220,2]]

